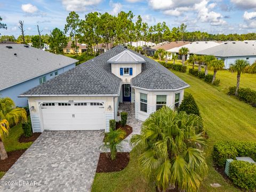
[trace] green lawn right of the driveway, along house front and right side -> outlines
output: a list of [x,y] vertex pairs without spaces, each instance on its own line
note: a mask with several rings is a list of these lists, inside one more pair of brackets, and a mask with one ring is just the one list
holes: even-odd
[[[209,149],[206,151],[209,174],[200,191],[239,191],[214,170],[213,143],[217,140],[256,141],[256,108],[226,94],[229,86],[236,85],[236,74],[227,70],[218,71],[217,78],[221,79],[218,87],[188,73],[173,73],[190,85],[186,92],[194,95],[204,119],[205,130],[210,137]],[[256,90],[255,82],[256,75],[242,74],[241,86]],[[150,191],[146,181],[138,175],[137,155],[135,151],[131,151],[131,162],[123,171],[96,174],[92,191]],[[212,188],[210,183],[219,183],[221,187]]]

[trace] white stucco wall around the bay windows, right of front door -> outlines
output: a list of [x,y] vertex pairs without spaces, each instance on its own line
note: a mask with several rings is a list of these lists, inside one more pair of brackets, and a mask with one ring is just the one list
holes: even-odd
[[[135,118],[145,121],[151,113],[156,111],[156,95],[166,95],[166,106],[174,109],[175,93],[180,94],[180,103],[183,100],[184,90],[180,91],[147,91],[135,88]],[[140,111],[140,93],[147,94],[147,113]]]

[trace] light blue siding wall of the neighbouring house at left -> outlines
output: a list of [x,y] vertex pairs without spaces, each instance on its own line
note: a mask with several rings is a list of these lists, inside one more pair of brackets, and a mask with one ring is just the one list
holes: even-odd
[[[39,85],[39,78],[40,77],[46,76],[46,81],[48,81],[48,80],[50,80],[54,77],[54,72],[55,71],[58,71],[58,75],[59,75],[59,74],[62,74],[63,72],[65,72],[65,71],[67,71],[71,68],[74,68],[75,66],[76,66],[75,63],[73,63],[69,66],[62,67],[60,69],[51,71],[50,73],[35,77],[35,78],[30,79],[26,82],[23,82],[23,83],[11,86],[7,89],[1,90],[0,91],[0,97],[10,97],[15,102],[16,106],[26,107],[26,106],[28,106],[28,99],[27,98],[18,98],[18,95],[20,95],[21,93],[26,92],[29,89]],[[51,73],[53,73],[53,77],[50,77]]]

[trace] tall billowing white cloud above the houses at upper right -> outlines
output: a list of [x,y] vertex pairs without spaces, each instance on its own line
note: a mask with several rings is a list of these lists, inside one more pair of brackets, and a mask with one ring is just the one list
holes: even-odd
[[201,3],[195,4],[197,18],[201,22],[210,22],[212,26],[226,25],[227,22],[222,19],[220,13],[211,11],[212,4],[208,5],[208,1],[203,0]]

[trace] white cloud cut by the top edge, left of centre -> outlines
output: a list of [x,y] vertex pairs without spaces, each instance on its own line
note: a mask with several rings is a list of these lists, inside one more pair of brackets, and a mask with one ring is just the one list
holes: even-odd
[[83,12],[87,11],[88,7],[98,5],[102,0],[62,0],[62,5],[67,11]]

